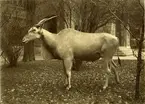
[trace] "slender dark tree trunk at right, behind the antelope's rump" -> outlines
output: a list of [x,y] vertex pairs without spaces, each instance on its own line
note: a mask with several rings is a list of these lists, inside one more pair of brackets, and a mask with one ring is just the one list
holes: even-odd
[[135,85],[135,99],[138,100],[140,96],[140,72],[143,69],[142,48],[144,40],[144,24],[140,32],[140,40],[138,44],[137,70],[136,70],[136,85]]

